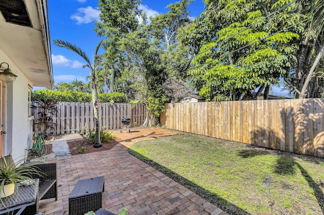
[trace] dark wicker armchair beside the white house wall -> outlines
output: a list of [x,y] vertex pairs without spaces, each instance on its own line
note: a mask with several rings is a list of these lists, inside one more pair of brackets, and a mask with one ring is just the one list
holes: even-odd
[[[14,164],[14,160],[10,155],[5,156],[8,164]],[[37,171],[43,173],[41,176],[37,174],[32,174],[31,178],[39,179],[39,188],[38,188],[38,198],[36,199],[36,204],[30,205],[25,208],[25,214],[35,214],[38,213],[38,201],[40,199],[49,199],[55,198],[57,200],[57,168],[56,163],[41,163],[33,164],[32,166],[36,167]]]

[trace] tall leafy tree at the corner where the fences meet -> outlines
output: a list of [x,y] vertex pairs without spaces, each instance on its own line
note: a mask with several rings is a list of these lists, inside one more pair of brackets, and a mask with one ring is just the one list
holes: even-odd
[[117,67],[122,74],[118,79],[124,83],[133,80],[130,87],[137,91],[137,98],[148,110],[144,126],[154,124],[164,110],[167,97],[163,83],[171,72],[177,74],[171,70],[173,61],[169,60],[187,54],[180,49],[176,51],[176,35],[189,22],[186,10],[190,2],[170,4],[170,12],[151,18],[148,25],[145,13],[139,10],[140,1],[99,1],[101,21],[97,22],[96,30],[107,38],[104,41],[110,58],[107,68]]

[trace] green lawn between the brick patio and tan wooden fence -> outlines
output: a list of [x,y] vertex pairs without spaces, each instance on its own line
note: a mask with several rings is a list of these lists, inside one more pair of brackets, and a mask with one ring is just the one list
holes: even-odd
[[230,214],[324,211],[322,158],[188,134],[140,141],[129,152]]

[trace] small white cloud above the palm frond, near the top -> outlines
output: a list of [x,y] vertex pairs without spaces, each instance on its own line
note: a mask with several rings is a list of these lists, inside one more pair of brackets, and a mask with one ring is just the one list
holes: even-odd
[[72,20],[76,21],[76,24],[87,24],[94,20],[99,21],[100,11],[88,6],[87,8],[78,8],[77,13],[70,16]]

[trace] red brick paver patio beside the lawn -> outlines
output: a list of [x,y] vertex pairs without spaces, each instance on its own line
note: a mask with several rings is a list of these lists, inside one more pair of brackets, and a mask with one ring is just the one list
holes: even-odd
[[[133,138],[131,134],[132,132],[127,137]],[[144,133],[137,135],[154,136]],[[117,138],[123,143],[122,136]],[[133,140],[135,139],[125,143],[134,143]],[[105,181],[102,207],[116,214],[123,207],[127,208],[131,215],[227,214],[129,154],[127,147],[122,144],[109,151],[56,158],[51,161],[57,162],[58,167],[58,199],[41,200],[39,210],[45,215],[68,214],[68,197],[76,181],[97,176],[104,176]]]

